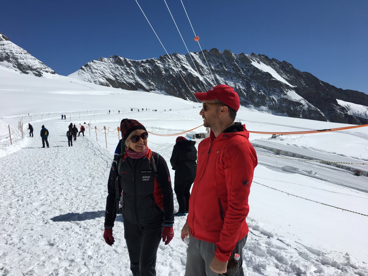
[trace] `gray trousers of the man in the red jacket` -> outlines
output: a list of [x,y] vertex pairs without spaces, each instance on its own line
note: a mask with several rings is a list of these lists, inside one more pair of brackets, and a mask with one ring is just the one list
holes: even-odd
[[[247,241],[247,236],[238,241],[235,245],[229,260],[232,260],[234,254],[240,255],[239,270],[236,276],[244,276],[243,265],[243,247]],[[219,276],[209,268],[209,265],[215,256],[216,245],[207,241],[197,240],[193,236],[187,248],[187,264],[185,265],[185,276]]]

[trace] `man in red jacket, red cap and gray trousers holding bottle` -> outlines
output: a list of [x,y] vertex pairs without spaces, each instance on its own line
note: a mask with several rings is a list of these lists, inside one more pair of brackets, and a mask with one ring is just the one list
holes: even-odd
[[256,152],[245,125],[234,123],[238,94],[227,85],[194,93],[203,101],[200,115],[210,137],[198,146],[197,176],[181,238],[190,237],[185,276],[226,273],[234,254],[240,255],[237,276],[243,276],[243,247],[247,241],[248,196],[257,165]]

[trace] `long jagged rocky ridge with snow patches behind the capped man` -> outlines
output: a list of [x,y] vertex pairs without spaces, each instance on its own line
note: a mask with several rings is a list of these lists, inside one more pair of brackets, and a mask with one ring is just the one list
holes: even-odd
[[195,100],[192,92],[227,84],[238,92],[243,106],[289,117],[368,123],[366,117],[351,114],[336,100],[368,106],[368,95],[362,92],[336,88],[286,61],[262,54],[234,54],[215,48],[203,53],[210,70],[202,52],[146,60],[111,56],[92,60],[68,77],[127,90],[164,91],[190,100]]

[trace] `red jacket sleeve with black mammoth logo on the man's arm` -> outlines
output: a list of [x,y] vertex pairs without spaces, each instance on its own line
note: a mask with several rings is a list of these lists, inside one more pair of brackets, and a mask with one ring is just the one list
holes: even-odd
[[226,262],[238,241],[241,227],[249,212],[248,196],[257,156],[251,144],[239,142],[229,147],[225,155],[227,210],[215,256]]

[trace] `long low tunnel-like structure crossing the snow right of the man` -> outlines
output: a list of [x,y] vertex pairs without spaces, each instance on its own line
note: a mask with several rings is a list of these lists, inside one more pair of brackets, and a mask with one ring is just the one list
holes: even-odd
[[314,158],[312,156],[307,156],[307,155],[302,155],[300,153],[285,151],[283,149],[280,150],[280,149],[277,149],[277,148],[273,148],[271,146],[265,146],[265,145],[257,144],[255,142],[251,142],[251,144],[252,144],[252,146],[254,146],[256,148],[266,149],[268,151],[275,152],[278,155],[285,155],[285,156],[305,159],[305,160],[302,160],[302,161],[315,160],[315,161],[319,161],[320,163],[324,163],[326,165],[330,165],[330,166],[334,166],[334,167],[337,167],[337,168],[340,168],[340,169],[352,171],[353,173],[356,173],[356,171],[360,171],[361,176],[368,176],[368,170],[362,171],[361,169],[357,169],[354,166],[347,166],[346,164],[348,164],[348,163],[342,163],[342,162],[336,162],[335,163],[335,162],[331,162],[331,161],[320,160],[320,159]]

